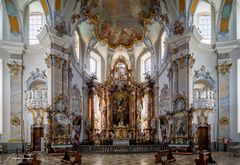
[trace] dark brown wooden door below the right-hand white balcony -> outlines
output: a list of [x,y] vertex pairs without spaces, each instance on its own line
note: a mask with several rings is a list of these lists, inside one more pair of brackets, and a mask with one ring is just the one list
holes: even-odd
[[198,127],[198,146],[202,150],[208,150],[208,127]]

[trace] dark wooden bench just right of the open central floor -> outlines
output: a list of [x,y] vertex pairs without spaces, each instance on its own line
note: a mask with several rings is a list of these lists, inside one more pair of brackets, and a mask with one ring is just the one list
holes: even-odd
[[[164,157],[166,157],[166,160],[163,159]],[[155,163],[161,163],[162,165],[165,165],[173,161],[176,161],[176,159],[173,157],[171,149],[158,151],[157,154],[155,154]]]

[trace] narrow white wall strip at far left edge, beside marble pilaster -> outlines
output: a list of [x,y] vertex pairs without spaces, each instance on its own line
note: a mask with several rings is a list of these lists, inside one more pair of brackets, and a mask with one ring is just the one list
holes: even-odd
[[9,61],[10,54],[0,49],[0,59],[3,61],[3,134],[1,142],[6,143],[10,137],[10,74],[6,63]]

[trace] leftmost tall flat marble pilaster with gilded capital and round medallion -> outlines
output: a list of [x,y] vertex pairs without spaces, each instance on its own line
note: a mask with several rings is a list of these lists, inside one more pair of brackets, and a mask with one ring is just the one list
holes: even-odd
[[[21,56],[21,55],[20,55]],[[10,139],[9,142],[23,142],[24,121],[22,116],[22,60],[10,59]]]

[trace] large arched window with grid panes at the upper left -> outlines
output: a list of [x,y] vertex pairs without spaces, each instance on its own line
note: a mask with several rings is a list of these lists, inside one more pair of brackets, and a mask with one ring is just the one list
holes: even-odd
[[29,5],[29,44],[39,43],[37,35],[40,33],[45,23],[43,8],[40,2],[32,2]]

